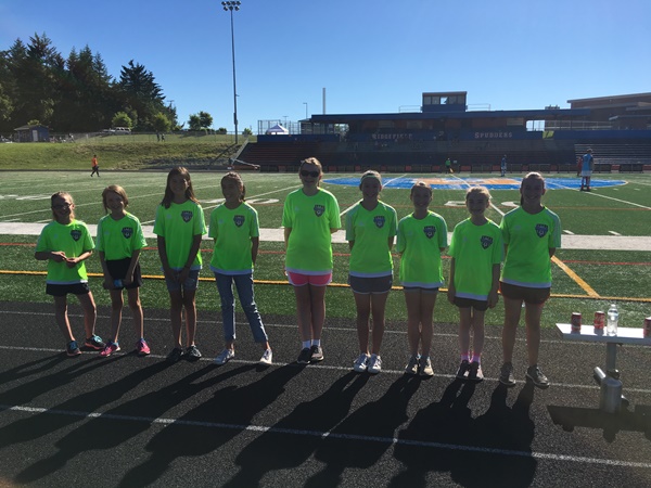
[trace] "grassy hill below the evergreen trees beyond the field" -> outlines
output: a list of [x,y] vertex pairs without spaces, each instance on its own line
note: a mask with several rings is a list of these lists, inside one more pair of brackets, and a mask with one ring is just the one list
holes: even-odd
[[0,170],[90,169],[98,155],[100,169],[145,169],[151,167],[224,166],[240,145],[232,136],[168,134],[165,142],[155,134],[89,137],[74,143],[0,144]]

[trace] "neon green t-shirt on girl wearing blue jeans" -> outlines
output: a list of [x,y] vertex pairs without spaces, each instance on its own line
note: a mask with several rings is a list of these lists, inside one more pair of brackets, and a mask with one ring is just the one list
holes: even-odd
[[215,240],[210,269],[221,274],[251,274],[251,237],[259,235],[255,208],[244,202],[232,210],[219,205],[210,214],[208,237]]

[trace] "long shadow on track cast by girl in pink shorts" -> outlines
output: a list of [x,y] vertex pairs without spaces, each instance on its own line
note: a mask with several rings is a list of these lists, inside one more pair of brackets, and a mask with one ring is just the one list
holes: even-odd
[[[257,365],[246,365],[220,376],[234,376],[253,369],[261,370]],[[229,385],[215,391],[209,400],[156,434],[145,446],[151,452],[149,459],[129,471],[118,486],[155,484],[178,458],[200,457],[220,448],[250,427],[255,415],[273,403],[284,393],[285,385],[303,369],[293,364],[279,367],[248,385]],[[205,389],[219,381],[217,376],[196,386]],[[216,479],[215,486],[219,484],[220,480]]]

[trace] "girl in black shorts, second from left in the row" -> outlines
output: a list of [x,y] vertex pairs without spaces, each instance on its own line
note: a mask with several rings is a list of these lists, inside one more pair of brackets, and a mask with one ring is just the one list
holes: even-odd
[[124,307],[123,290],[127,291],[129,309],[136,330],[136,352],[150,354],[143,335],[142,306],[139,287],[142,286],[140,251],[146,246],[140,220],[127,211],[129,198],[122,187],[112,184],[102,192],[102,204],[106,214],[98,223],[97,251],[104,273],[104,288],[111,294],[111,338],[100,352],[106,358],[118,351],[119,326]]

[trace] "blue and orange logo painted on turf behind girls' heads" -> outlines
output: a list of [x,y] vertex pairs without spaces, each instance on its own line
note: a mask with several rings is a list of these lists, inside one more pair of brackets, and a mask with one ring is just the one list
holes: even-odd
[[[524,177],[524,175],[523,175]],[[425,177],[425,178],[387,178],[383,182],[383,188],[407,189],[413,187],[417,181],[424,181],[436,190],[467,190],[470,187],[482,185],[488,190],[519,190],[522,178],[458,178],[458,177]],[[336,178],[326,179],[323,182],[329,184],[341,184],[343,187],[358,187],[359,178]],[[578,190],[580,188],[580,178],[545,178],[545,184],[548,190]],[[592,178],[590,188],[612,188],[626,184],[623,180],[596,180]]]

